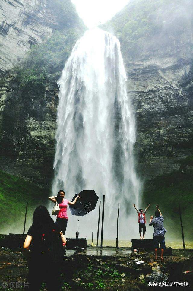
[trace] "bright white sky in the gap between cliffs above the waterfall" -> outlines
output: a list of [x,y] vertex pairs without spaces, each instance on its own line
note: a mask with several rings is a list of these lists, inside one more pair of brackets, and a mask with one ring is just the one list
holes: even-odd
[[130,0],[71,0],[87,27],[111,19]]

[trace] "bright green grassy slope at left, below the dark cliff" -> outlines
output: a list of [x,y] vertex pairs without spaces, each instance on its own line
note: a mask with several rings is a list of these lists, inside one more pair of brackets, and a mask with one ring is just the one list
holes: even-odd
[[0,229],[1,233],[23,233],[26,203],[26,231],[31,225],[33,211],[46,205],[48,193],[33,183],[0,171]]

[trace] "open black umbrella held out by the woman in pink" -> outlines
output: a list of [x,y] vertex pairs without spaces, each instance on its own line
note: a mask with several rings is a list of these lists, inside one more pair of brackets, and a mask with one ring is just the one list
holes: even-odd
[[[74,205],[70,205],[69,208],[72,215],[84,216],[95,208],[99,198],[94,190],[83,190],[78,195],[80,198],[77,199]],[[72,198],[72,202],[76,196]]]

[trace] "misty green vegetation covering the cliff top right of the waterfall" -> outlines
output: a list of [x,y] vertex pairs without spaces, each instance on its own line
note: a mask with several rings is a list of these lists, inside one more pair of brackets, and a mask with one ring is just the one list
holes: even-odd
[[175,39],[192,26],[191,8],[190,0],[134,0],[102,28],[113,30],[127,55],[161,53],[160,46],[166,44],[172,53]]

